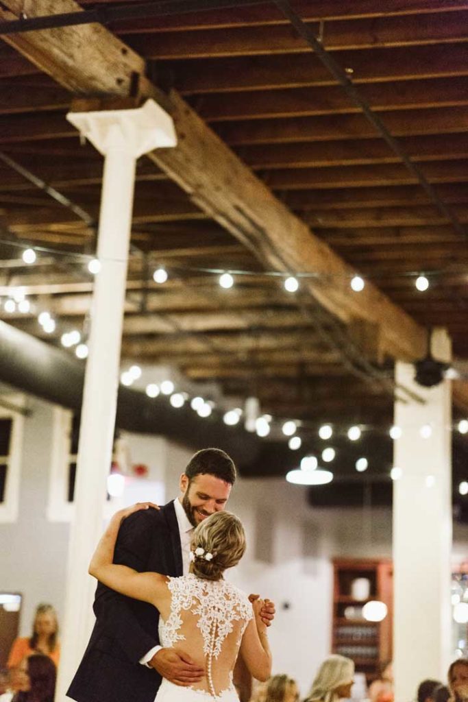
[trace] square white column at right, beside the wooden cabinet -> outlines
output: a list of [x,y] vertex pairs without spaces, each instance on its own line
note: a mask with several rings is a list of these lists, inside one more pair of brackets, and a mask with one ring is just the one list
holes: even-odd
[[[445,331],[433,334],[432,352],[450,360]],[[396,383],[425,404],[396,402],[394,422],[403,434],[394,446],[394,674],[395,699],[415,698],[424,678],[445,680],[450,657],[451,388],[414,382],[412,364],[396,364]],[[423,438],[420,429],[431,428]]]

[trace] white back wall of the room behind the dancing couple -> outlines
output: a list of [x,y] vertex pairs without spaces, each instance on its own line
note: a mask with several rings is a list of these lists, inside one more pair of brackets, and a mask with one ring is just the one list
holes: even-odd
[[[0,590],[25,595],[22,635],[29,634],[38,602],[51,602],[62,614],[69,531],[67,524],[46,521],[53,408],[38,400],[31,408],[25,421],[20,517],[17,524],[0,524]],[[126,438],[131,462],[149,466],[149,479],[140,482],[136,498],[163,502],[175,497],[192,451],[158,437]],[[391,510],[310,508],[305,488],[282,479],[239,479],[229,509],[241,517],[248,537],[246,556],[229,578],[276,603],[269,633],[274,672],[293,675],[306,694],[330,651],[330,559],[391,557]],[[467,552],[468,526],[455,527],[455,563]]]

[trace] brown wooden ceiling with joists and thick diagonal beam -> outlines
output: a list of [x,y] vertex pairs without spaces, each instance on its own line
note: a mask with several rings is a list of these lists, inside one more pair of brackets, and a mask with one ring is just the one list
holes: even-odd
[[[138,2],[29,5],[4,1],[0,20]],[[466,3],[291,6],[466,225]],[[99,39],[91,46],[82,32]],[[337,439],[337,473],[352,475],[366,451],[387,472],[394,359],[424,355],[432,326],[446,326],[455,357],[468,358],[467,240],[274,3],[3,38],[0,152],[93,219],[102,159],[65,120],[72,99],[124,97],[131,72],[140,98],[168,95],[180,147],[138,162],[123,362],[175,366],[187,382],[216,383],[227,404],[256,395],[265,413],[302,422],[314,451],[320,423],[368,425],[367,444]],[[86,328],[92,276],[54,251],[92,254],[93,227],[5,161],[0,208],[4,241],[45,249],[27,267],[1,244],[0,295],[25,286],[34,310],[0,317],[60,343],[62,331]],[[157,265],[169,272],[163,286]],[[255,274],[224,291],[211,268]],[[320,276],[291,295],[265,270]],[[349,288],[353,272],[362,293]],[[37,323],[42,309],[58,321],[52,335]],[[465,413],[466,385],[456,389]],[[464,444],[455,441],[455,483],[466,478]]]

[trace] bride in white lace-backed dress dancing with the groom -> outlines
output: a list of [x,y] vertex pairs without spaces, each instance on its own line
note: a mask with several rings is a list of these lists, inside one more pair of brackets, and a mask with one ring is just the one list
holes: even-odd
[[222,577],[227,568],[239,563],[246,549],[242,524],[225,511],[203,519],[192,537],[192,563],[186,576],[138,573],[113,564],[122,519],[153,506],[138,503],[116,512],[98,543],[89,572],[122,595],[154,604],[161,614],[161,645],[188,654],[204,668],[204,677],[192,687],[180,687],[163,678],[157,702],[213,702],[213,698],[239,702],[232,683],[239,651],[258,680],[267,680],[272,668],[267,628],[260,618],[263,600],[251,604],[242,590]]

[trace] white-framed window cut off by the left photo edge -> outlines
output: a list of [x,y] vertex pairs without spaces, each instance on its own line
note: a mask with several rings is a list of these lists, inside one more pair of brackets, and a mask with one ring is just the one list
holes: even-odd
[[0,404],[0,523],[16,522],[20,503],[20,474],[24,397],[8,396],[7,409]]

